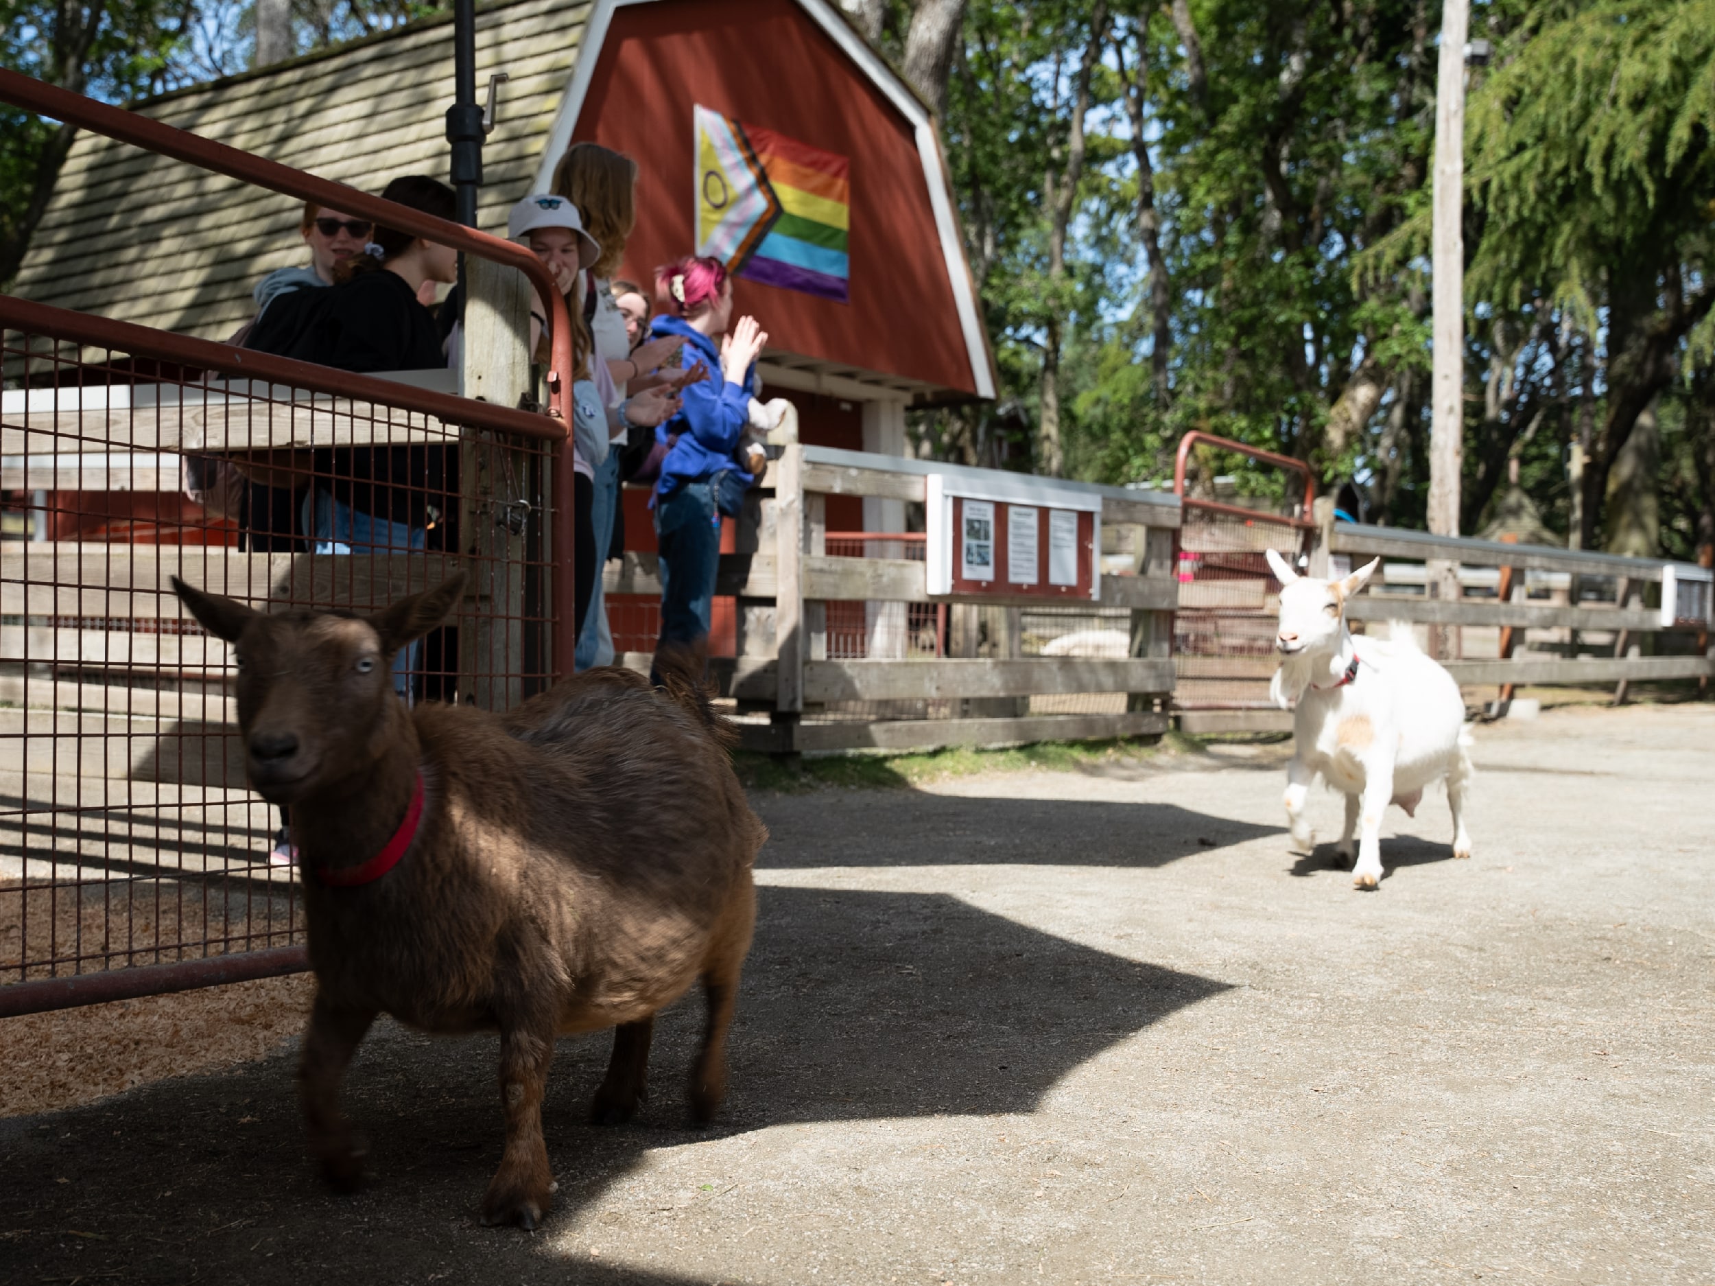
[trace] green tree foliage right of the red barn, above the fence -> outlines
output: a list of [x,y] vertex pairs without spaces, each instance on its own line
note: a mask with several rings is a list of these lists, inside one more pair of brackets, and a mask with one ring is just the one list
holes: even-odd
[[[971,2],[945,130],[1003,396],[919,417],[919,446],[1029,466],[1055,315],[1072,475],[1159,482],[1180,436],[1206,429],[1307,460],[1324,485],[1357,478],[1374,516],[1420,526],[1441,3],[1190,0],[1187,12],[1188,27],[1164,3],[1115,10],[1068,273],[1050,290],[1044,175],[1067,137],[1089,7]],[[1715,310],[1700,302],[1715,288],[1715,0],[1475,0],[1471,36],[1495,57],[1468,75],[1463,526],[1506,490],[1516,458],[1544,521],[1569,532],[1583,513],[1598,540],[1600,514],[1568,480],[1569,444],[1595,461],[1586,492],[1600,506],[1598,470],[1664,372],[1715,364]],[[1122,62],[1142,77],[1170,281],[1164,388]],[[1689,550],[1715,502],[1691,466],[1708,420],[1681,424],[1664,437],[1665,451],[1684,434],[1664,456],[1677,497],[1664,494],[1664,523],[1681,535],[1664,540]],[[1197,463],[1204,484],[1235,473],[1243,492],[1279,490],[1231,456]]]

